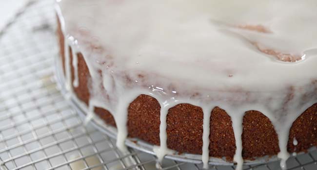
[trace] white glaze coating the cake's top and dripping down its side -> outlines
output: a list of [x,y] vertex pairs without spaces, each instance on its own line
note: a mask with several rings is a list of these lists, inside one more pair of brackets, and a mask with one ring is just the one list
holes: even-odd
[[[232,119],[238,170],[242,119],[246,111],[258,110],[274,125],[283,167],[292,123],[317,102],[316,7],[315,0],[59,0],[66,86],[73,92],[78,85],[80,52],[91,75],[89,115],[94,107],[113,114],[121,151],[126,150],[129,103],[141,94],[156,98],[161,106],[158,159],[170,153],[169,108],[179,103],[201,107],[204,168],[214,106]],[[289,63],[279,56],[301,57]]]

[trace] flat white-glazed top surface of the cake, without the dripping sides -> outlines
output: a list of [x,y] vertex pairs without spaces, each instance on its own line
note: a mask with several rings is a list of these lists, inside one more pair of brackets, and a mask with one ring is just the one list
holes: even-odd
[[277,91],[317,79],[316,0],[58,2],[80,51],[136,84]]

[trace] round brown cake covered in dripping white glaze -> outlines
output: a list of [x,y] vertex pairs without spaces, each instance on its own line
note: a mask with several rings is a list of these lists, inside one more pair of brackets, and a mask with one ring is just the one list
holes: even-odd
[[65,85],[127,137],[244,160],[317,146],[316,0],[57,0]]

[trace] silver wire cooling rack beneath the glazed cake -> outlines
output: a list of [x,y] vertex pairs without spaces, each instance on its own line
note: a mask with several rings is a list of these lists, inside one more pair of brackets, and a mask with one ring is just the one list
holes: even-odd
[[[109,136],[83,125],[54,79],[55,22],[52,0],[32,0],[0,30],[0,170],[200,170],[201,164],[156,163],[133,149],[122,154]],[[317,170],[317,150],[292,157],[288,168]],[[244,170],[280,168],[272,162]]]

